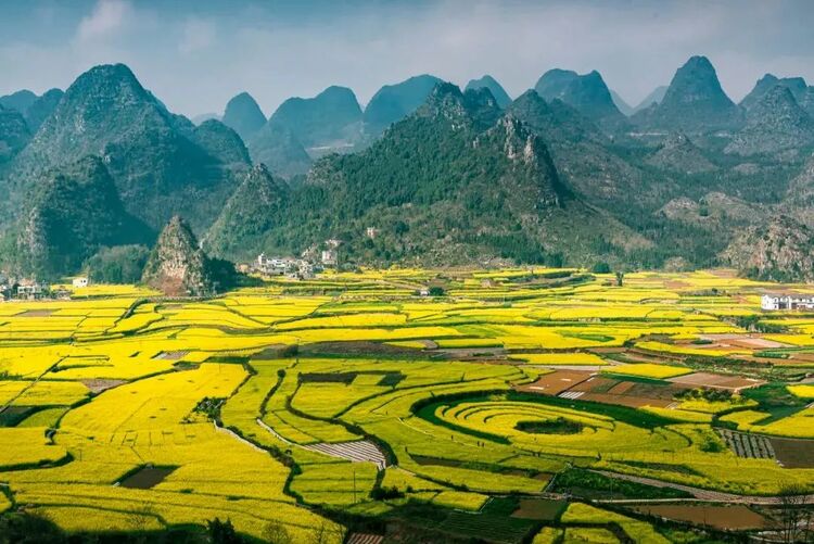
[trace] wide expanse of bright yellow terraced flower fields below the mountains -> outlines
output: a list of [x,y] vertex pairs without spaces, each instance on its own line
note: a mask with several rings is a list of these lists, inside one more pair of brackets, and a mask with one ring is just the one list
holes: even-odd
[[777,290],[805,288],[393,269],[2,303],[0,510],[71,532],[686,542],[588,503],[814,493],[814,314],[762,313]]

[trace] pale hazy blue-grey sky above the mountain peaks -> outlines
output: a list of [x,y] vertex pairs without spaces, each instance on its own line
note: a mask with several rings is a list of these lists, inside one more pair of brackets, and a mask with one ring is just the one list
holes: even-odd
[[705,54],[739,100],[766,72],[814,85],[814,1],[0,0],[0,94],[66,88],[124,62],[173,111],[222,112],[247,90],[269,115],[344,85],[492,74],[512,96],[547,69],[598,69],[635,104]]

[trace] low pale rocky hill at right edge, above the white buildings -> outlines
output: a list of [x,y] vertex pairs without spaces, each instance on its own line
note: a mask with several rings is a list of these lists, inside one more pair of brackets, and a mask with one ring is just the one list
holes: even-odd
[[785,215],[750,227],[721,256],[752,279],[814,281],[814,231]]

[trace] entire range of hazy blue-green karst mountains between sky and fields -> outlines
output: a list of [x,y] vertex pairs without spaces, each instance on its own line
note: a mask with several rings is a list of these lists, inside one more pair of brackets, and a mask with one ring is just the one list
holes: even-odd
[[76,273],[175,216],[216,257],[334,238],[379,265],[741,265],[737,232],[814,225],[814,88],[767,74],[736,104],[704,56],[636,106],[557,68],[513,100],[488,75],[419,75],[365,107],[331,86],[268,116],[242,92],[218,116],[173,114],[122,64],[0,98],[0,268]]

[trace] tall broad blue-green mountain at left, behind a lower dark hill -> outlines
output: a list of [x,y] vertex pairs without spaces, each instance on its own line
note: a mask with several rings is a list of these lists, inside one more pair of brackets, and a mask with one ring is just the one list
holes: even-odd
[[8,182],[13,195],[24,194],[40,173],[97,155],[128,213],[157,229],[181,212],[204,228],[231,193],[233,170],[249,167],[242,147],[237,137],[169,113],[127,66],[102,65],[65,91],[15,157]]

